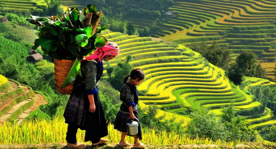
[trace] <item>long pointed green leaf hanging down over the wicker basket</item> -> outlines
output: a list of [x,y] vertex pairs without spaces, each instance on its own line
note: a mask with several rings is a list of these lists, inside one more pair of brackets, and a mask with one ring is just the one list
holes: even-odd
[[67,77],[65,78],[65,80],[61,86],[61,89],[64,89],[66,86],[68,86],[69,84],[74,82],[76,80],[77,75],[80,73],[81,73],[81,63],[77,57],[74,65],[72,66],[70,72],[68,73]]

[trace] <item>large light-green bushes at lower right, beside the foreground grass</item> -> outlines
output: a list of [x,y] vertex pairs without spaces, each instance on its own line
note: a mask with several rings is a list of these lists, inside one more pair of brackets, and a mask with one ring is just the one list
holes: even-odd
[[194,138],[204,136],[235,142],[256,140],[256,133],[248,128],[250,124],[243,117],[237,116],[233,103],[223,108],[220,118],[207,110],[196,110],[191,118],[186,133]]

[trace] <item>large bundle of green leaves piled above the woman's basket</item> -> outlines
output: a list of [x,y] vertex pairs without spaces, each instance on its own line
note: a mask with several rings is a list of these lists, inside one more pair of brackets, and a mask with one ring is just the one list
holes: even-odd
[[106,28],[99,26],[102,12],[97,12],[95,5],[79,10],[73,7],[61,16],[52,16],[50,19],[31,16],[27,19],[31,24],[40,26],[38,39],[35,40],[33,49],[41,46],[44,54],[58,60],[75,60],[62,88],[71,84],[80,74],[80,59],[102,47],[107,39],[98,36]]

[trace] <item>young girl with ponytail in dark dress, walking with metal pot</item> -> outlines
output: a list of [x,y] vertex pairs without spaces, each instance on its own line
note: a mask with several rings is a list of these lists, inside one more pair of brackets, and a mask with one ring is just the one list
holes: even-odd
[[[130,77],[130,81],[127,81],[128,77]],[[144,80],[144,78],[145,78],[145,74],[139,68],[133,69],[130,75],[125,76],[125,79],[124,79],[125,85],[122,87],[120,91],[120,100],[123,101],[123,103],[114,121],[114,129],[117,129],[120,132],[122,132],[121,140],[118,143],[118,145],[120,146],[131,146],[131,144],[129,144],[128,142],[125,142],[125,136],[127,135],[126,121],[128,118],[134,119],[135,117],[139,120],[138,112],[137,112],[137,104],[139,99],[138,99],[138,90],[136,86],[139,85]],[[133,147],[145,148],[145,145],[138,141],[138,139],[142,140],[140,123],[138,125],[138,134],[134,135],[133,137],[134,137]]]

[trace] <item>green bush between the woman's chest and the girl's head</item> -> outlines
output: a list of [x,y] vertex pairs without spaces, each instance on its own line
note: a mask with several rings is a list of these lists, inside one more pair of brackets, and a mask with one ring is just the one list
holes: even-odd
[[130,74],[133,67],[129,64],[131,57],[127,57],[125,62],[117,63],[117,66],[109,66],[107,68],[108,81],[117,90],[123,86],[124,77]]

